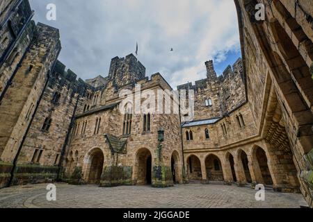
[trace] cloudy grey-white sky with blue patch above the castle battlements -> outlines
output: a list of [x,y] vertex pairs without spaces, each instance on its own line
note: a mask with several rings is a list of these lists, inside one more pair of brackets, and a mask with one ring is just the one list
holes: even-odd
[[[172,87],[218,74],[241,56],[232,0],[30,0],[35,22],[60,29],[59,60],[80,78],[107,76],[111,58],[136,51],[147,76],[160,72]],[[48,3],[56,21],[48,21]],[[170,51],[172,48],[174,51]]]

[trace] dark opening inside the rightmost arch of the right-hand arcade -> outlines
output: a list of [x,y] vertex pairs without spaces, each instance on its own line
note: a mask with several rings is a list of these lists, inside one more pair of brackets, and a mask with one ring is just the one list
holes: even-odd
[[271,173],[268,169],[267,157],[265,151],[257,146],[254,151],[254,160],[259,164],[259,170],[263,178],[264,185],[273,185]]

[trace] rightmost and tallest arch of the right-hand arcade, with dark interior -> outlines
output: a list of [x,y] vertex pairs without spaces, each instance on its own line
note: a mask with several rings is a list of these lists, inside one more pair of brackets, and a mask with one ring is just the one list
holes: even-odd
[[268,168],[268,160],[264,149],[255,146],[252,151],[252,160],[257,164],[257,167],[254,167],[255,176],[259,180],[257,182],[261,182],[264,185],[273,185],[273,179]]

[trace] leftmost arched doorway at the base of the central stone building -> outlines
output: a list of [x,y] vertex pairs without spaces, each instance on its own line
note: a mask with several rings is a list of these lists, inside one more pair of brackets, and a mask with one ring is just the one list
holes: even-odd
[[88,153],[88,183],[99,184],[104,164],[104,155],[101,149],[94,148]]

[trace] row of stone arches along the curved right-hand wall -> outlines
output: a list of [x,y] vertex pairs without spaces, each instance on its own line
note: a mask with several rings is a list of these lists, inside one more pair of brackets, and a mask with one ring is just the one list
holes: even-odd
[[263,184],[278,191],[298,192],[295,167],[292,160],[288,161],[290,154],[281,152],[281,155],[282,160],[278,160],[270,146],[258,145],[208,155],[187,154],[186,174],[190,181],[223,182],[226,185],[236,183],[252,187]]

